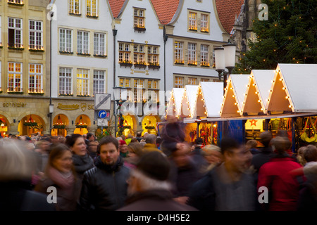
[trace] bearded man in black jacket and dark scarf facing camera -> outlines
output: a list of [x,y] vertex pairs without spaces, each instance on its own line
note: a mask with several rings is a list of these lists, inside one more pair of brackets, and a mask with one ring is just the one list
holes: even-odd
[[82,180],[79,210],[113,211],[122,207],[127,196],[130,170],[123,165],[119,143],[113,136],[99,141],[96,167]]

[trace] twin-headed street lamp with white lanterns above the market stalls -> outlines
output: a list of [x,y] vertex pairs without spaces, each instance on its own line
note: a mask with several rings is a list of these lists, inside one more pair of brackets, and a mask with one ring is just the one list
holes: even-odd
[[[235,44],[224,44],[222,47],[215,48],[216,71],[219,79],[223,77],[223,89],[227,86],[227,77],[235,68]],[[225,71],[228,69],[228,72]]]

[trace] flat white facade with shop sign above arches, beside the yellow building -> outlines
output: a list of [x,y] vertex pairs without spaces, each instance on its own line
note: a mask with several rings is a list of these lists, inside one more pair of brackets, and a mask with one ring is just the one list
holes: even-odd
[[94,133],[94,95],[111,91],[112,15],[107,1],[51,1],[51,75],[54,134]]

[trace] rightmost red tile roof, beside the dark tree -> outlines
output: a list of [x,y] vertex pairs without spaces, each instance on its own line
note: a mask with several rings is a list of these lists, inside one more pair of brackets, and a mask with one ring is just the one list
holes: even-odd
[[238,18],[243,3],[244,0],[216,0],[219,20],[226,32],[231,32],[235,16]]

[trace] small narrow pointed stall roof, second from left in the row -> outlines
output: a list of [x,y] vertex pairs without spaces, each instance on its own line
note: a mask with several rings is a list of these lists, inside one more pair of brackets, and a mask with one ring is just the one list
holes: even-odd
[[198,85],[185,85],[185,91],[182,96],[182,105],[180,110],[182,117],[194,117],[197,91]]

